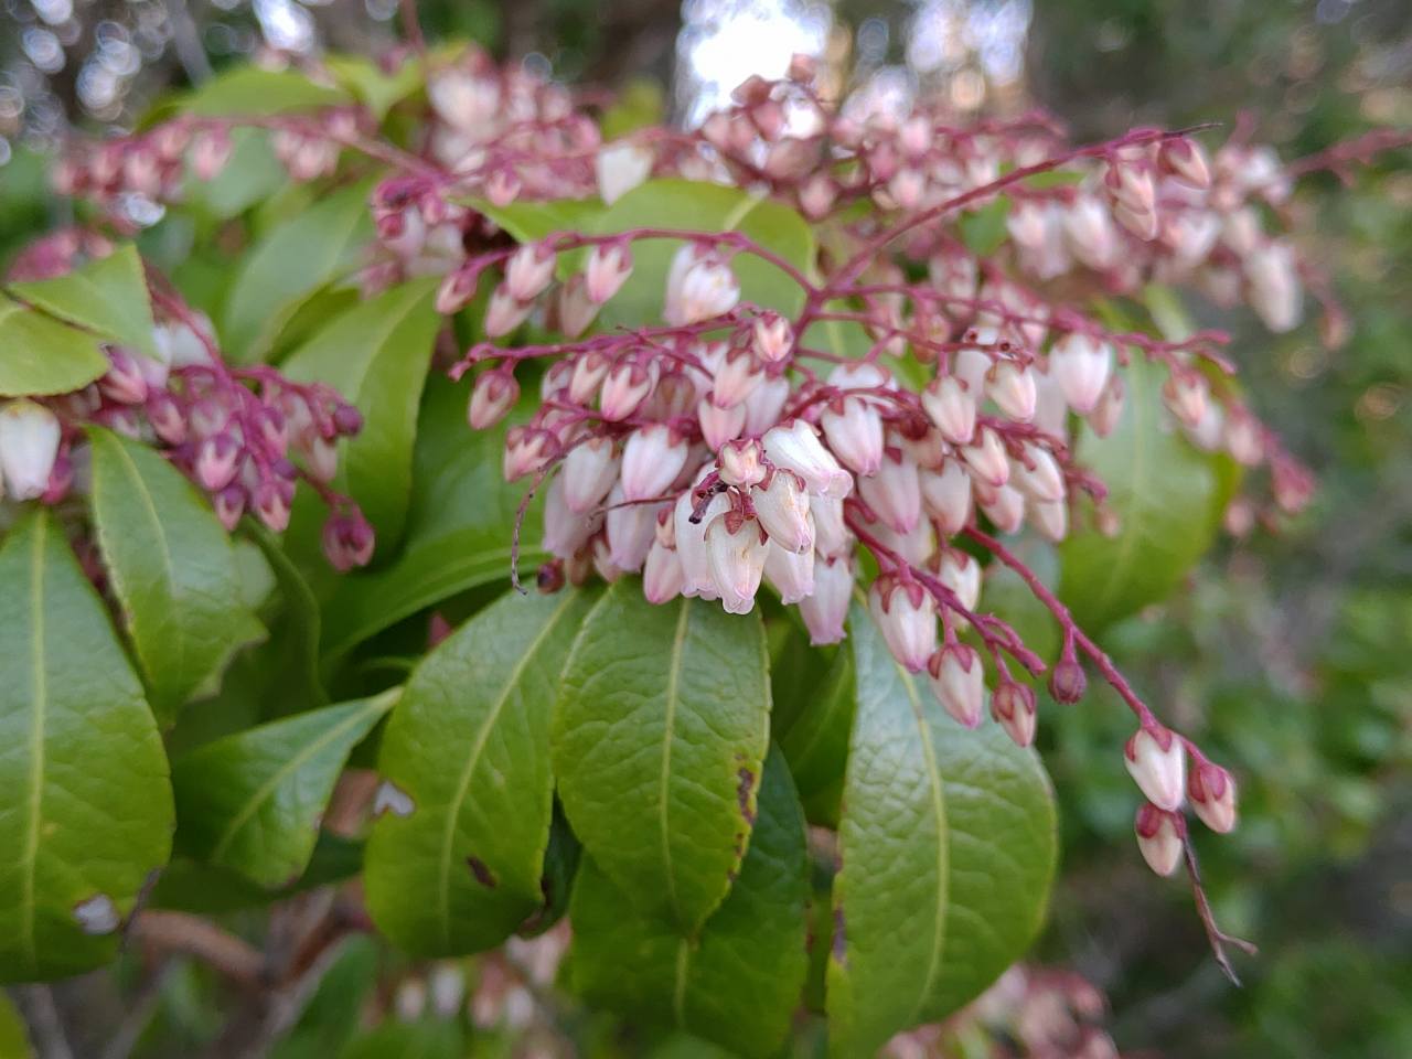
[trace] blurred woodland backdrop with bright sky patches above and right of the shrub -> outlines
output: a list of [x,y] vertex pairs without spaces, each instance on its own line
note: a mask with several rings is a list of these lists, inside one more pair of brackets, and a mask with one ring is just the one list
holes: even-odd
[[[1248,112],[1291,158],[1412,124],[1406,0],[418,7],[429,38],[474,38],[685,124],[801,51],[853,93],[1042,104],[1079,138]],[[395,0],[0,0],[0,267],[56,219],[45,155],[71,127],[123,128],[165,88],[273,49],[376,54],[398,35]],[[1272,337],[1190,306],[1236,332],[1252,405],[1320,474],[1313,510],[1227,539],[1176,599],[1103,637],[1240,778],[1241,827],[1199,842],[1219,918],[1261,947],[1238,960],[1244,988],[1210,959],[1186,888],[1137,856],[1124,712],[1094,695],[1041,726],[1063,866],[1034,959],[1107,997],[1124,1055],[1412,1056],[1412,171],[1394,162],[1353,189],[1317,175],[1291,206],[1354,321],[1341,349],[1312,323]]]

